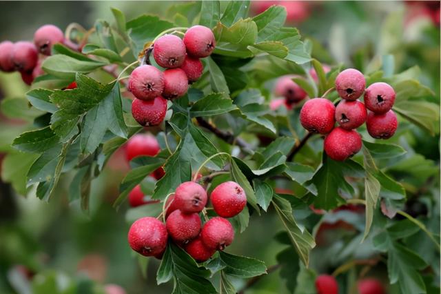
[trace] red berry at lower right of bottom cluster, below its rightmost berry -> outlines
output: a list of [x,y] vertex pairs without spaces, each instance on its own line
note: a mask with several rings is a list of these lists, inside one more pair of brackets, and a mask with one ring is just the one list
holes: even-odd
[[223,250],[233,242],[233,226],[223,217],[213,217],[204,224],[201,239],[208,248]]

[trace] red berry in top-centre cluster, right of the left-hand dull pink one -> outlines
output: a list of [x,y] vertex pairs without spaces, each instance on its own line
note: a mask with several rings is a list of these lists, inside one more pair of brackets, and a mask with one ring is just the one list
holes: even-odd
[[163,97],[173,99],[185,95],[188,89],[188,79],[181,68],[170,68],[164,71]]

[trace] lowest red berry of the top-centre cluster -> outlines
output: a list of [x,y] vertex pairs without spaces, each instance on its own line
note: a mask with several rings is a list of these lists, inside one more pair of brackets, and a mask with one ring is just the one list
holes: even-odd
[[141,126],[158,126],[167,112],[167,100],[158,96],[153,100],[134,99],[132,115]]

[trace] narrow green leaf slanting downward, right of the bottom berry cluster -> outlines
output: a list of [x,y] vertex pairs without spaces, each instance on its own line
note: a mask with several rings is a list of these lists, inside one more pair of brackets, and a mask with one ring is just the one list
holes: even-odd
[[277,215],[280,217],[298,256],[302,262],[308,266],[309,253],[311,249],[316,246],[314,237],[312,237],[306,228],[297,224],[296,219],[294,219],[294,216],[292,215],[291,204],[289,204],[286,199],[274,195],[271,203],[273,204]]

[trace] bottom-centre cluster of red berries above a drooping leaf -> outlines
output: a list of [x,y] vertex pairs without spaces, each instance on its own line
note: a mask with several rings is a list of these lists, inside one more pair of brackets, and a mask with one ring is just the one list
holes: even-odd
[[165,224],[154,217],[142,217],[132,224],[130,247],[141,255],[161,258],[170,236],[197,262],[205,262],[216,250],[232,244],[234,229],[226,218],[238,215],[247,204],[245,192],[236,182],[216,186],[210,199],[218,217],[202,224],[199,213],[207,204],[207,192],[196,182],[184,182],[165,202]]

